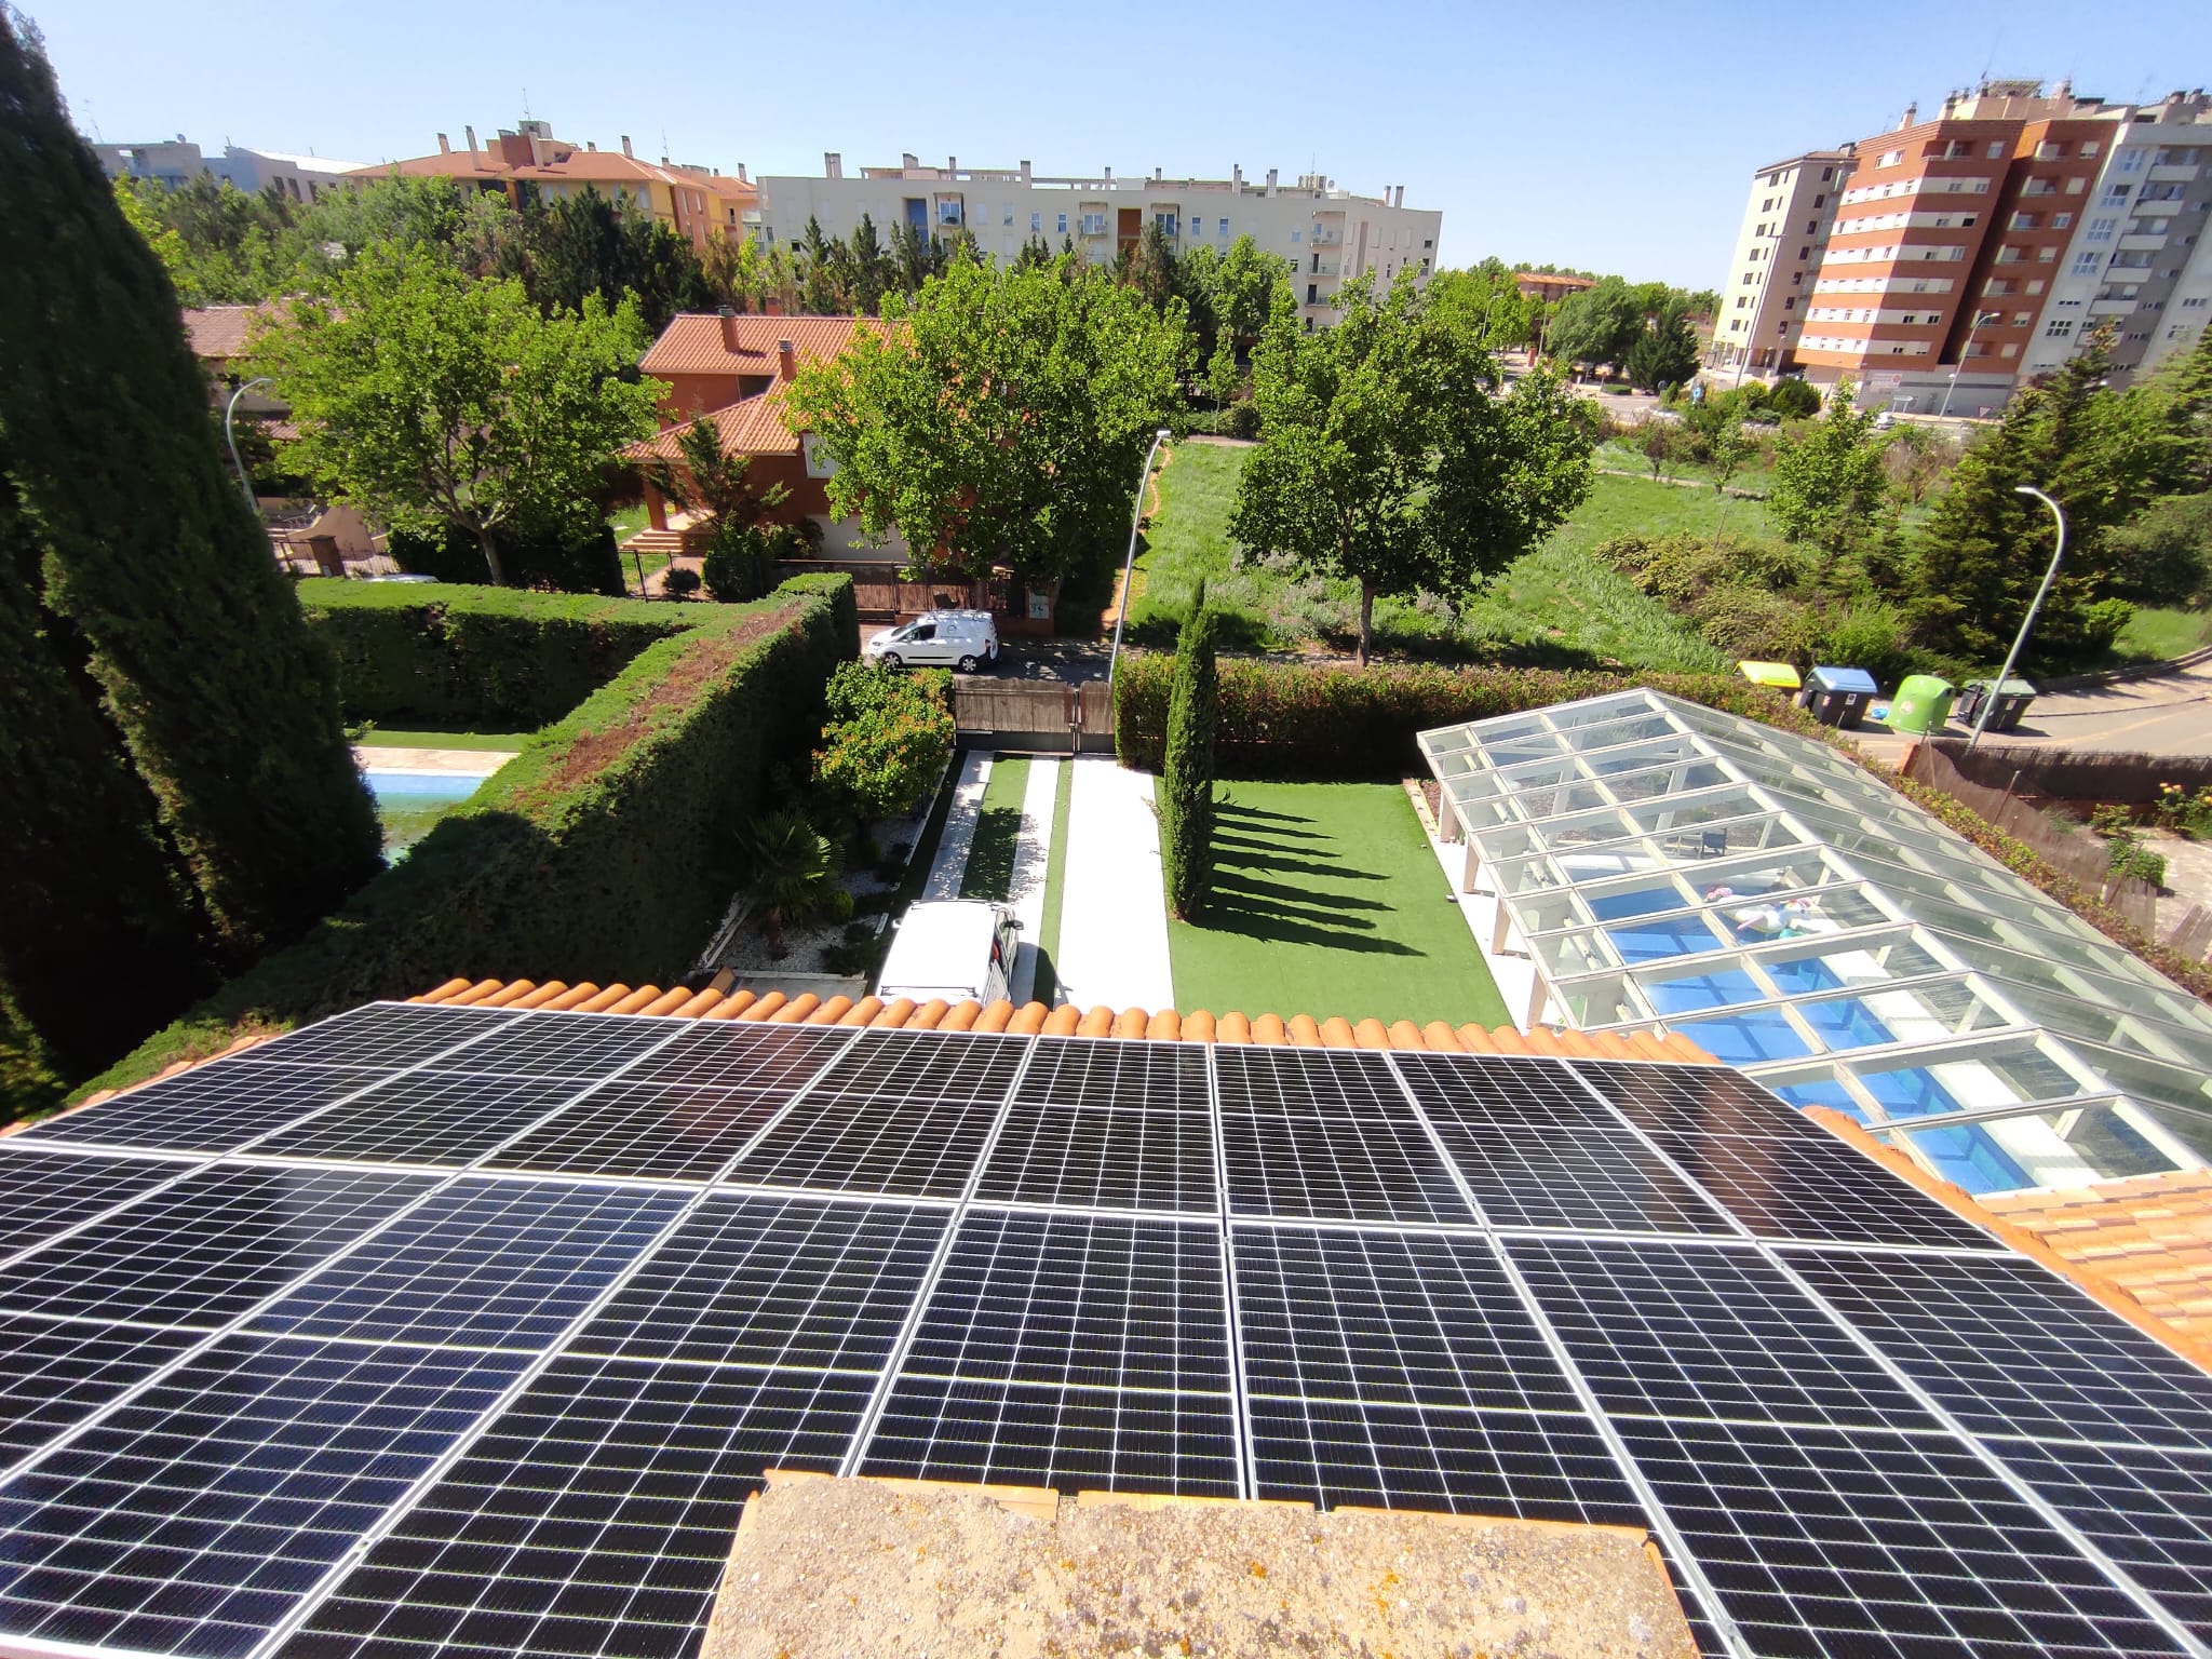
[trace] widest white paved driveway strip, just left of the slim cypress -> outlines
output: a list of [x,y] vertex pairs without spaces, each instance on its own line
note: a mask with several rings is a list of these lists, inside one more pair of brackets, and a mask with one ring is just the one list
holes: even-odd
[[1082,1009],[1172,1009],[1152,776],[1084,754],[1068,801],[1060,991]]

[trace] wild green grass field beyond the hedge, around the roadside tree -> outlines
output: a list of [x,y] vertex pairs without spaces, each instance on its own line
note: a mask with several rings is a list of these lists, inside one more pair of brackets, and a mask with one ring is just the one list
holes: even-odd
[[[1159,511],[1133,584],[1128,626],[1137,641],[1172,646],[1190,595],[1206,577],[1208,597],[1223,611],[1230,650],[1352,646],[1358,591],[1349,582],[1301,577],[1256,560],[1234,568],[1228,520],[1250,453],[1225,445],[1175,447],[1159,473]],[[1588,549],[1630,529],[1646,535],[1772,533],[1759,502],[1601,476],[1573,520],[1471,604],[1455,611],[1433,597],[1376,602],[1376,644],[1464,661],[1725,670],[1721,653],[1690,624],[1590,557]]]

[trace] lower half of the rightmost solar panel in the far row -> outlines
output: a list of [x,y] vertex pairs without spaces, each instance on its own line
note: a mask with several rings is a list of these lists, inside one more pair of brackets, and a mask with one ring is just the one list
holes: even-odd
[[1816,1124],[1807,1128],[1820,1139],[1674,1130],[1655,1130],[1650,1139],[1761,1239],[1991,1252],[2004,1248],[1993,1234]]

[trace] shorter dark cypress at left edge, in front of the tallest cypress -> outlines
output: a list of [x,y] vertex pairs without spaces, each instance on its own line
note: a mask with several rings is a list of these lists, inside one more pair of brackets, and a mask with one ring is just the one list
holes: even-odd
[[[31,526],[0,480],[0,1044],[13,1029],[11,1046],[84,1077],[212,975],[153,796],[100,712],[82,641],[38,606],[35,575]],[[131,973],[122,1006],[117,964]]]

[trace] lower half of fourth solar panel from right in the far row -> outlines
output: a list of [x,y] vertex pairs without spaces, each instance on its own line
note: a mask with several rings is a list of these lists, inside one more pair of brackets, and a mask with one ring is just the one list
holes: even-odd
[[[1141,1099],[1141,1097],[1139,1097]],[[1018,1099],[984,1164],[987,1203],[1217,1212],[1208,1110]]]

